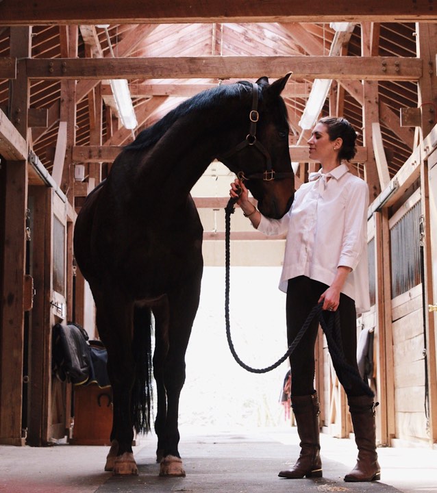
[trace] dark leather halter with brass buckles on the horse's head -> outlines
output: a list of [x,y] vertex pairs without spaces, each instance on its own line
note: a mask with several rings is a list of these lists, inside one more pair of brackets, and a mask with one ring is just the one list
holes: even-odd
[[221,160],[225,163],[228,157],[240,152],[247,146],[253,146],[254,149],[257,149],[260,153],[262,153],[262,155],[264,155],[264,159],[266,160],[266,169],[262,173],[253,173],[251,175],[245,175],[245,172],[243,170],[238,171],[238,173],[236,173],[238,179],[242,181],[249,179],[262,179],[263,181],[272,181],[274,179],[291,178],[293,176],[293,173],[278,173],[273,169],[269,151],[267,151],[267,149],[256,138],[256,124],[260,119],[260,114],[258,113],[258,94],[258,84],[252,82],[252,109],[249,113],[249,134],[247,134],[245,140],[240,142],[240,144],[237,144],[230,151],[217,156],[218,160]]

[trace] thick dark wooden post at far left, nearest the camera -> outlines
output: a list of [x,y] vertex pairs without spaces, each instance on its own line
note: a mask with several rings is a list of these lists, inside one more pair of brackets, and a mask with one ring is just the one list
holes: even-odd
[[[10,56],[30,55],[30,27],[11,27]],[[25,60],[18,60],[10,91],[10,118],[27,138],[29,81]],[[5,183],[5,245],[1,320],[0,443],[22,445],[24,276],[26,258],[27,162],[8,161]]]

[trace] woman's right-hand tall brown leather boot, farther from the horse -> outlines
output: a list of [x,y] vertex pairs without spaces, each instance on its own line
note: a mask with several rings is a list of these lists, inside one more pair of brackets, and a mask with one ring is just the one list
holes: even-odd
[[376,425],[373,397],[348,397],[355,443],[358,446],[357,464],[345,476],[345,481],[377,481],[381,479],[381,468],[376,453]]

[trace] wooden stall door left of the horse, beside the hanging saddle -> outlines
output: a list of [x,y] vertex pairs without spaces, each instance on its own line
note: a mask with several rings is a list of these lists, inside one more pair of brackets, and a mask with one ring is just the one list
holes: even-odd
[[27,444],[64,438],[71,426],[71,385],[52,375],[52,329],[66,323],[66,202],[53,188],[29,188],[34,304],[29,320]]

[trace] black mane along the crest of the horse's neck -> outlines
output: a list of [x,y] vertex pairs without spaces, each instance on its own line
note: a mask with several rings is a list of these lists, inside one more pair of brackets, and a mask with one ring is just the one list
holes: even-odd
[[190,99],[187,99],[181,103],[177,108],[174,108],[163,116],[158,122],[148,127],[136,136],[134,142],[127,144],[125,149],[132,151],[145,150],[148,147],[156,144],[158,140],[170,127],[182,116],[186,116],[195,110],[211,109],[214,105],[222,104],[223,98],[239,97],[242,98],[243,94],[247,93],[247,88],[250,88],[251,84],[247,81],[240,81],[238,84],[221,84],[216,88],[204,90],[199,92]]

